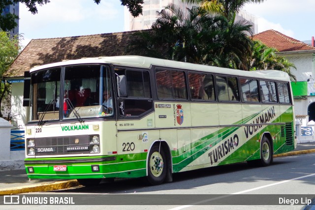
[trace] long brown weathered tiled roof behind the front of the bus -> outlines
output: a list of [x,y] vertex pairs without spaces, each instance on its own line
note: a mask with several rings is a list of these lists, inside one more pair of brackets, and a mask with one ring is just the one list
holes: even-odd
[[3,76],[6,78],[24,77],[24,71],[29,71],[36,65],[62,60],[131,55],[131,53],[126,54],[126,48],[131,40],[137,38],[136,32],[32,39]]

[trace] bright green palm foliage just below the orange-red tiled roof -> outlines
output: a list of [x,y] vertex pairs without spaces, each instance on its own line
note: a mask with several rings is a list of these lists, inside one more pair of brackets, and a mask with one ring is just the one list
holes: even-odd
[[248,66],[251,71],[275,69],[286,72],[292,81],[296,81],[296,77],[290,69],[295,65],[282,56],[278,56],[276,48],[267,47],[258,40],[252,40],[252,56],[249,57]]

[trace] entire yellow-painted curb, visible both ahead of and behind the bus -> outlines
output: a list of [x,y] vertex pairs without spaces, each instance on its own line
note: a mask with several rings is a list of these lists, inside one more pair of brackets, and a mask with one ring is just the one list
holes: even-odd
[[[284,156],[307,154],[307,153],[313,153],[313,152],[315,152],[315,149],[290,151],[283,154],[275,154],[274,157],[284,157]],[[71,187],[75,187],[79,185],[81,184],[77,180],[56,181],[52,183],[0,189],[0,195],[14,195],[14,194],[21,194],[21,193],[28,193],[28,192],[45,192],[45,191],[51,191],[51,190],[67,189],[67,188],[71,188]]]

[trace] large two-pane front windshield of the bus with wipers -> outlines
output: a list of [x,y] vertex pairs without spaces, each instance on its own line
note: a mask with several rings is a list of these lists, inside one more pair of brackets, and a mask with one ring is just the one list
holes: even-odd
[[31,74],[31,85],[31,121],[114,115],[110,71],[105,66],[86,64],[45,69]]

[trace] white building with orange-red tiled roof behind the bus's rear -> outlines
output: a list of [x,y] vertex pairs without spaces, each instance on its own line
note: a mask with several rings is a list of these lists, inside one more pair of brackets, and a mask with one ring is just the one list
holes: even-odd
[[[295,120],[302,127],[312,127],[315,121],[315,47],[291,38],[276,30],[266,30],[253,36],[268,47],[276,48],[278,55],[294,63],[291,72],[297,82],[291,82],[295,105]],[[313,121],[312,121],[313,120]],[[314,135],[313,135],[314,138]]]

